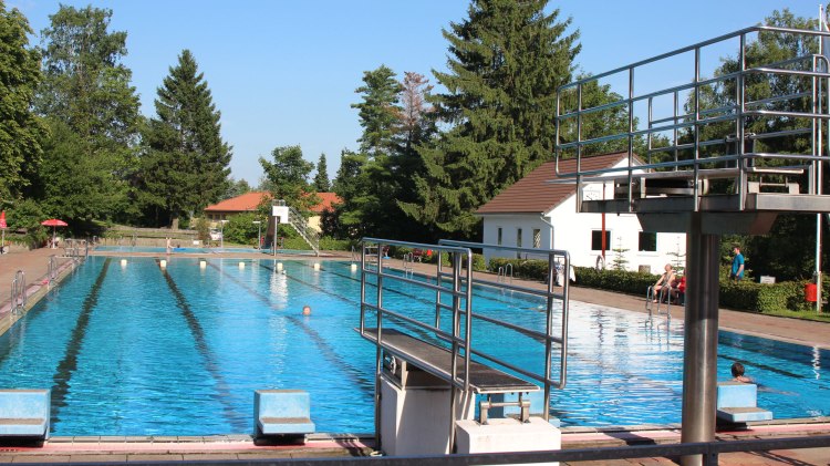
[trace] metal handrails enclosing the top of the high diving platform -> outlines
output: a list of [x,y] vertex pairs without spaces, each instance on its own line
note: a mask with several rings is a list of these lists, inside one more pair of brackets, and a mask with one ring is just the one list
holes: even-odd
[[[735,31],[728,34],[724,34],[707,41],[698,42],[693,45],[688,45],[682,49],[677,49],[671,52],[666,52],[646,60],[641,60],[630,65],[620,66],[609,72],[591,75],[581,80],[562,85],[558,89],[557,94],[557,116],[556,116],[556,174],[560,178],[575,178],[578,186],[579,197],[577,200],[578,209],[581,206],[581,193],[582,185],[585,183],[582,177],[591,175],[601,175],[610,173],[624,174],[627,178],[627,210],[632,211],[634,208],[633,196],[634,191],[631,188],[632,178],[635,172],[642,172],[647,169],[677,169],[683,166],[691,166],[695,170],[695,183],[692,185],[692,196],[694,203],[692,204],[695,210],[699,207],[698,198],[703,196],[702,189],[697,182],[703,175],[698,174],[706,165],[720,164],[723,166],[726,163],[732,163],[739,169],[737,177],[738,183],[735,184],[735,194],[738,195],[739,209],[746,208],[747,203],[747,179],[749,176],[757,176],[749,172],[751,164],[749,160],[753,159],[789,159],[789,160],[805,160],[805,162],[819,162],[823,163],[828,159],[822,154],[820,147],[822,136],[822,126],[830,121],[830,113],[824,108],[826,101],[821,95],[822,86],[819,85],[819,81],[830,80],[830,72],[828,66],[828,58],[821,54],[807,53],[798,56],[784,58],[782,60],[774,63],[753,63],[751,68],[746,65],[745,59],[740,61],[738,70],[716,75],[714,77],[701,76],[701,51],[712,44],[720,43],[732,39],[739,39],[738,56],[746,56],[746,51],[749,46],[750,41],[747,39],[748,34],[764,33],[764,34],[795,34],[802,38],[817,38],[824,39],[830,38],[830,32],[827,31],[810,31],[810,30],[797,30],[788,28],[774,28],[774,27],[751,27]],[[642,72],[643,66],[660,62],[662,60],[676,58],[677,55],[686,54],[687,52],[694,52],[694,60],[692,64],[694,68],[689,71],[694,71],[694,77],[691,82],[683,83],[681,85],[672,85],[657,91],[650,92],[635,92],[634,89],[634,76],[635,72]],[[692,56],[688,58],[689,60]],[[685,60],[685,58],[684,58]],[[674,62],[672,62],[674,63]],[[801,65],[805,63],[806,65]],[[676,65],[674,65],[676,66]],[[612,75],[627,75],[627,92],[622,93],[623,96],[618,101],[603,103],[593,107],[583,107],[582,100],[582,86],[589,83],[599,82],[602,79]],[[751,101],[747,95],[746,87],[748,86],[747,81],[749,76],[756,76],[754,79],[764,80],[769,79],[767,76],[784,76],[784,77],[801,77],[803,84],[799,85],[798,89],[789,91],[784,95],[771,95],[765,99],[757,99]],[[810,82],[812,84],[810,84]],[[726,103],[720,104],[717,108],[706,108],[701,103],[701,95],[705,89],[710,86],[725,85],[726,83],[734,83],[734,90],[730,90],[730,94],[727,95]],[[732,85],[732,84],[728,84]],[[810,89],[810,86],[812,86]],[[694,108],[689,112],[681,112],[679,95],[681,93],[687,93],[693,103]],[[734,93],[734,94],[732,94]],[[660,115],[661,117],[655,118],[652,114],[653,100],[655,97],[667,97],[674,99],[673,111],[670,111],[671,116]],[[807,99],[807,103],[802,103]],[[566,101],[568,100],[568,101]],[[642,102],[647,102],[647,120],[643,124],[643,128],[636,128],[633,125],[633,115],[635,113],[634,105],[642,105]],[[782,103],[782,102],[798,102],[798,105],[790,107],[772,106],[770,104]],[[819,105],[818,103],[821,102]],[[567,105],[567,107],[566,107]],[[627,131],[622,131],[615,134],[590,134],[588,138],[583,138],[581,132],[582,118],[585,115],[603,112],[609,108],[624,107],[629,113],[630,125]],[[639,108],[639,107],[637,107]],[[786,110],[785,110],[786,108]],[[749,118],[765,117],[765,118],[802,118],[811,120],[812,127],[808,131],[803,130],[791,130],[784,128],[778,130],[770,127],[769,131],[762,134],[753,135],[748,132]],[[707,127],[714,123],[723,122],[725,125],[734,125],[733,138],[728,141],[728,137],[724,138],[712,138],[708,136],[708,141],[703,141],[701,137],[702,127]],[[810,126],[809,122],[807,126]],[[728,127],[728,126],[727,126]],[[695,138],[692,143],[681,143],[679,130],[694,132]],[[574,136],[572,141],[562,141],[563,131],[573,131]],[[613,133],[609,132],[609,133]],[[652,147],[652,136],[655,134],[668,133],[668,145],[663,147]],[[753,148],[745,147],[744,144],[736,143],[737,141],[756,141],[764,138],[774,137],[787,137],[792,134],[811,134],[812,148],[807,149],[807,154],[785,154],[785,153],[770,153],[764,151],[754,151]],[[651,154],[664,153],[670,155],[667,162],[651,163],[635,165],[633,148],[634,141],[639,137],[647,137],[646,153]],[[809,137],[809,136],[808,136]],[[626,141],[627,149],[622,149],[623,153],[627,152],[627,163],[621,164],[616,168],[600,168],[600,169],[583,169],[582,159],[584,158],[584,149],[596,144],[609,143],[618,141],[619,144],[625,144]],[[702,153],[701,148],[704,146],[710,146],[714,144],[727,145],[725,154],[708,155]],[[730,148],[732,146],[732,148]],[[693,156],[687,159],[679,159],[678,152],[686,151],[686,154],[692,153]],[[561,160],[568,157],[575,159],[575,167],[566,172],[562,169]],[[673,157],[672,157],[673,154]],[[650,157],[651,158],[651,157]],[[641,160],[636,160],[639,164]],[[817,186],[820,186],[821,179],[812,179],[812,177],[820,177],[818,170],[810,173],[811,179],[809,183],[808,194],[816,194]],[[621,177],[622,179],[622,177]]]

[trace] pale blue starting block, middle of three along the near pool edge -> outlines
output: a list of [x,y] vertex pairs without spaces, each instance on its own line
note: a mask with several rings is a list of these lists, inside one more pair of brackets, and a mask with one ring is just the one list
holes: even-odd
[[309,393],[302,390],[253,392],[253,436],[299,436],[314,433]]

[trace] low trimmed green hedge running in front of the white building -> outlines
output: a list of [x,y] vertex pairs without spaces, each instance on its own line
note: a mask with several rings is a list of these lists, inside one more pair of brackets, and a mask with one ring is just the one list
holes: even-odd
[[[508,263],[513,267],[513,277],[530,280],[546,280],[548,261],[538,259],[490,259],[489,270],[498,272]],[[645,296],[645,290],[657,281],[660,276],[624,270],[601,270],[591,267],[575,267],[577,283],[581,287],[619,291],[627,294]],[[729,309],[762,313],[805,311],[812,309],[805,302],[806,281],[785,281],[761,284],[753,281],[720,281],[719,306]],[[823,298],[830,296],[830,279],[822,287]]]

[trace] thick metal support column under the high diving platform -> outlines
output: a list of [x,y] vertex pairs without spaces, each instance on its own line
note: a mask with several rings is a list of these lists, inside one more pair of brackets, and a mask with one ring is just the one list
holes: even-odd
[[[718,252],[720,237],[704,235],[701,213],[692,214],[686,236],[687,280],[683,341],[683,424],[681,442],[715,439],[717,406]],[[703,464],[703,456],[681,458],[683,466]]]

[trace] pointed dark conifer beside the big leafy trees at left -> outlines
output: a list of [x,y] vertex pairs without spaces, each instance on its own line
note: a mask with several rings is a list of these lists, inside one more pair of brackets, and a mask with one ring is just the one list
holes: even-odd
[[184,50],[157,90],[157,117],[144,135],[139,198],[174,228],[181,215],[201,210],[228,189],[231,149],[204,77]]

